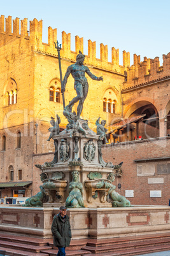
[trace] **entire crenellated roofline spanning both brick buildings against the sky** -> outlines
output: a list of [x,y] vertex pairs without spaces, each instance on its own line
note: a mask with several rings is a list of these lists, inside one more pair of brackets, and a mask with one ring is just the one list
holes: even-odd
[[[5,18],[0,17],[0,47],[14,40],[20,40],[22,43],[30,43],[35,52],[44,53],[57,57],[57,50],[54,42],[57,41],[57,29],[48,27],[48,43],[43,43],[43,21],[34,20],[29,22],[24,18],[20,20],[11,16]],[[83,52],[83,38],[75,36],[75,51],[71,50],[71,34],[62,32],[62,49],[60,56],[62,59],[76,61],[76,55],[79,50]],[[85,58],[85,64],[94,68],[100,68],[112,73],[123,75],[127,73],[127,81],[123,85],[123,89],[136,86],[141,83],[147,83],[155,79],[170,75],[170,53],[163,55],[163,66],[159,64],[159,57],[155,59],[147,59],[144,57],[141,62],[140,55],[134,54],[134,64],[130,66],[130,53],[123,51],[123,66],[119,64],[119,50],[111,48],[111,62],[108,62],[108,45],[100,44],[100,59],[96,58],[96,41],[88,40],[88,55]]]

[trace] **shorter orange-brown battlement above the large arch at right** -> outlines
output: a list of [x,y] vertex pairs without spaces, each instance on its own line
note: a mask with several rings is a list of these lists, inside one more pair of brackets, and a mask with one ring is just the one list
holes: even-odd
[[170,53],[163,55],[163,65],[159,64],[159,57],[140,61],[140,55],[134,54],[134,64],[127,68],[127,82],[123,85],[124,90],[142,87],[150,82],[162,80],[170,76]]

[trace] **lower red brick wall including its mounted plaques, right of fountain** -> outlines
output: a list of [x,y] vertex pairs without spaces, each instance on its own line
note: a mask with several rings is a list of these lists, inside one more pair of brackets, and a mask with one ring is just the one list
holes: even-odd
[[[131,204],[169,203],[170,137],[124,141],[103,148],[104,160],[124,162],[115,178],[117,192]],[[119,184],[119,185],[118,185]]]

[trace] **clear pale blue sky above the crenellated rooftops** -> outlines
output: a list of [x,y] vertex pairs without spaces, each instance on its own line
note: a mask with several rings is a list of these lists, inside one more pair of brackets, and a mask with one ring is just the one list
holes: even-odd
[[[96,41],[97,57],[99,45],[108,45],[108,60],[111,47],[154,59],[170,52],[170,1],[115,1],[115,0],[1,0],[0,15],[12,18],[43,20],[43,41],[48,41],[48,27],[57,28],[57,39],[61,43],[61,32],[71,33],[71,50],[74,37],[84,38],[84,53],[87,41]],[[28,28],[29,29],[29,28]]]

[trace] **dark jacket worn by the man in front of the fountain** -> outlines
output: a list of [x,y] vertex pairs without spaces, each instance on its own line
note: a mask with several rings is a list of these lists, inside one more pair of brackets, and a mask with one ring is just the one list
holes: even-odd
[[53,217],[52,222],[53,245],[55,247],[67,247],[71,241],[71,227],[69,217],[66,215],[65,223],[60,213]]

